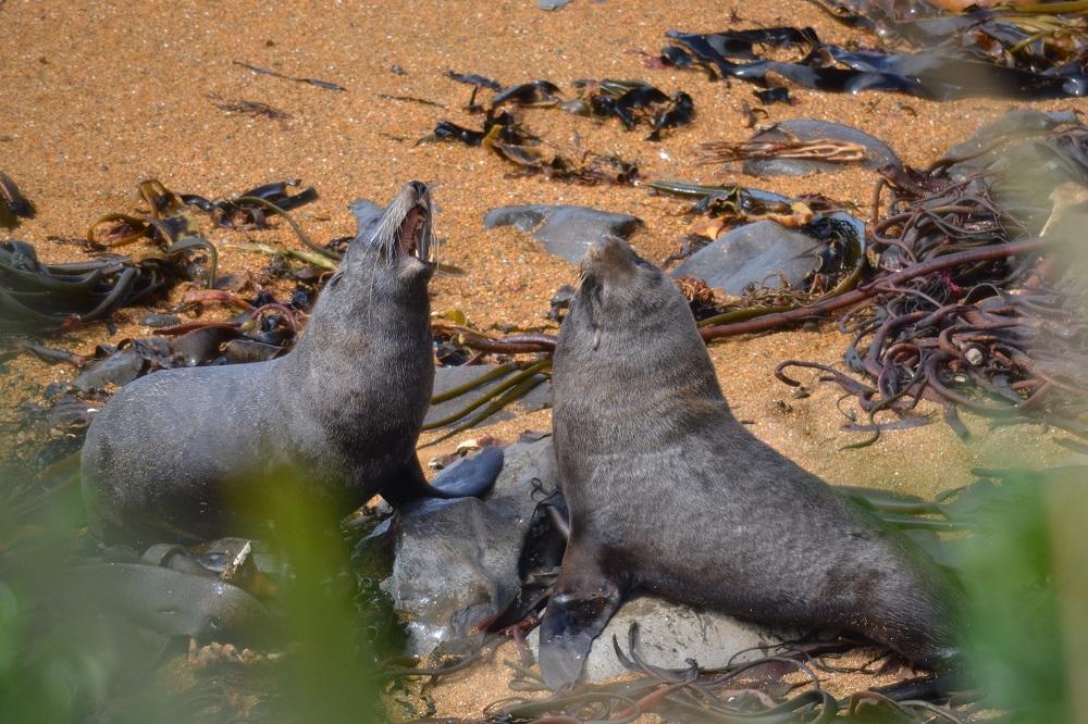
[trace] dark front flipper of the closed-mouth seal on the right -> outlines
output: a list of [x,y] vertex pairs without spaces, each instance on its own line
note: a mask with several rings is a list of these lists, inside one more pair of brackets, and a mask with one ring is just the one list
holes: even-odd
[[553,690],[582,675],[593,639],[604,631],[620,603],[625,587],[597,563],[596,551],[580,552],[568,544],[555,592],[541,620],[540,664],[544,684]]

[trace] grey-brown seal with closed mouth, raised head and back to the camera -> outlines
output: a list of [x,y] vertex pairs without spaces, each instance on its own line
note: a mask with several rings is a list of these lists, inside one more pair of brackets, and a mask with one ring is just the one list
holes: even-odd
[[957,592],[923,551],[730,413],[688,302],[620,239],[586,253],[553,362],[570,538],[541,623],[552,688],[625,597],[840,628],[941,667]]

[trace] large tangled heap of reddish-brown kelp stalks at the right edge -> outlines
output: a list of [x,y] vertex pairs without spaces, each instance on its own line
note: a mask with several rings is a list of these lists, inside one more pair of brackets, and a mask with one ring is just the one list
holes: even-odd
[[[968,432],[957,410],[1088,434],[1088,300],[1075,250],[1083,227],[1077,204],[1060,203],[1088,198],[1088,128],[991,141],[991,155],[980,152],[974,165],[949,159],[928,172],[887,172],[874,214],[881,191],[891,200],[871,225],[877,273],[839,322],[851,335],[848,372],[790,360],[780,379],[799,384],[784,374],[792,366],[818,370],[856,399],[875,434],[876,414],[916,417],[922,399],[941,404],[961,437]],[[1043,223],[1031,198],[1048,190]]]

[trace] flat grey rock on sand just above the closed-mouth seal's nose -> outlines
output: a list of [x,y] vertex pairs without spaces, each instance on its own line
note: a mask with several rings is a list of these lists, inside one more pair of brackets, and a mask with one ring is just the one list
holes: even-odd
[[591,244],[609,235],[626,239],[642,225],[642,220],[585,207],[535,204],[492,209],[483,217],[483,225],[532,232],[549,253],[577,264]]

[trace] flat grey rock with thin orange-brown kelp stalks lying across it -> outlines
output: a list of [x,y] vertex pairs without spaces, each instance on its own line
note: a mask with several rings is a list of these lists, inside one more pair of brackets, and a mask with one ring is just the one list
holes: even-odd
[[[799,140],[811,141],[820,138],[858,143],[866,148],[866,159],[861,162],[866,168],[879,168],[888,164],[900,164],[899,157],[882,140],[863,130],[841,123],[795,118],[783,121],[771,128],[756,134],[753,141],[784,140],[795,136]],[[752,159],[744,162],[744,173],[750,176],[806,176],[808,174],[830,174],[842,171],[851,164],[816,161],[811,159]]]

